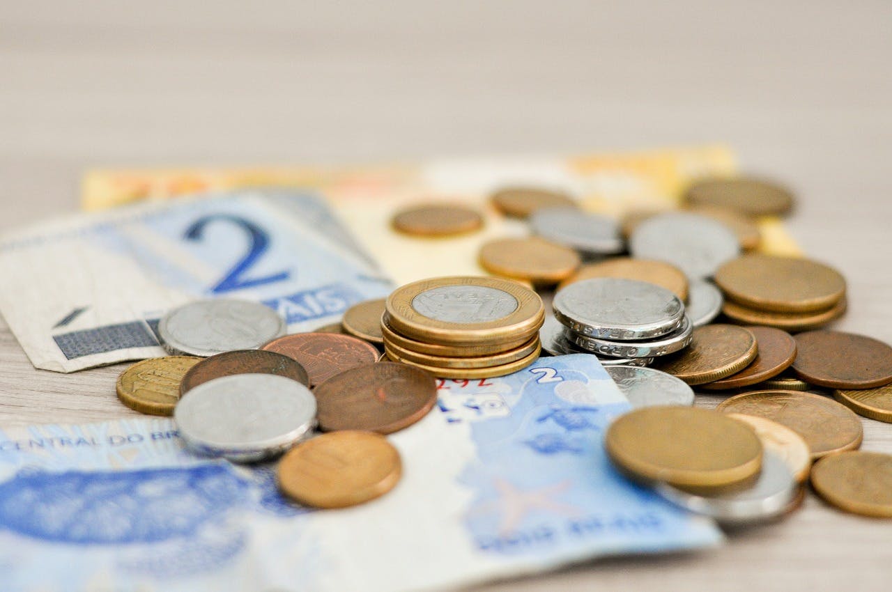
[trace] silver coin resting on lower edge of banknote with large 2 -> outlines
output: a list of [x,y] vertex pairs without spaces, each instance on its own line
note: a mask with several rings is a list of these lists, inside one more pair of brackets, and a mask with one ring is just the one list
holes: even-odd
[[248,300],[197,300],[170,310],[158,324],[171,354],[208,357],[233,349],[257,349],[285,334],[285,319]]

